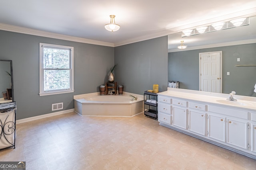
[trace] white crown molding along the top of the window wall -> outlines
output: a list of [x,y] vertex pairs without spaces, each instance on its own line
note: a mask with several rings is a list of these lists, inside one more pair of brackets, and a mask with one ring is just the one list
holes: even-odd
[[108,46],[108,47],[114,47],[114,43],[96,41],[96,40],[85,39],[85,38],[80,38],[80,37],[73,37],[73,36],[69,36],[69,35],[51,33],[51,32],[46,32],[46,31],[39,31],[36,29],[17,27],[17,26],[7,25],[7,24],[3,24],[3,23],[0,23],[0,30],[16,32],[16,33],[24,33],[24,34],[29,34],[29,35],[36,35],[36,36],[41,36],[41,37],[62,39],[62,40],[67,40],[67,41],[79,42],[79,43],[88,43],[88,44],[94,44],[94,45],[103,45],[103,46]]

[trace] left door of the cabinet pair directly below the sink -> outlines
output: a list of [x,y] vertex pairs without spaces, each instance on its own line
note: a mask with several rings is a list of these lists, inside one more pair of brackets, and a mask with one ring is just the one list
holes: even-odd
[[226,142],[226,117],[208,115],[208,137]]

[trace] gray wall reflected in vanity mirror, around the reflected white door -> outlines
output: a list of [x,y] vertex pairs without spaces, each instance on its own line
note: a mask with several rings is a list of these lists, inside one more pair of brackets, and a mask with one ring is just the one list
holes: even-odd
[[235,66],[256,64],[256,43],[168,53],[168,80],[180,81],[180,88],[199,90],[199,53],[212,51],[222,51],[222,93],[234,90],[238,95],[256,96],[256,66]]

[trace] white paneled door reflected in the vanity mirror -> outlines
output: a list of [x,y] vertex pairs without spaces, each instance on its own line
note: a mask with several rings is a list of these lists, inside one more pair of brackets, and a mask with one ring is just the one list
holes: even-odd
[[222,51],[199,53],[200,91],[222,92]]

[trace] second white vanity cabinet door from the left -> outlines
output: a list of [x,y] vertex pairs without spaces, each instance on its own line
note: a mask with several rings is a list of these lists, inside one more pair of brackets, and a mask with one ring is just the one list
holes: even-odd
[[198,111],[189,111],[188,130],[205,136],[206,113]]

